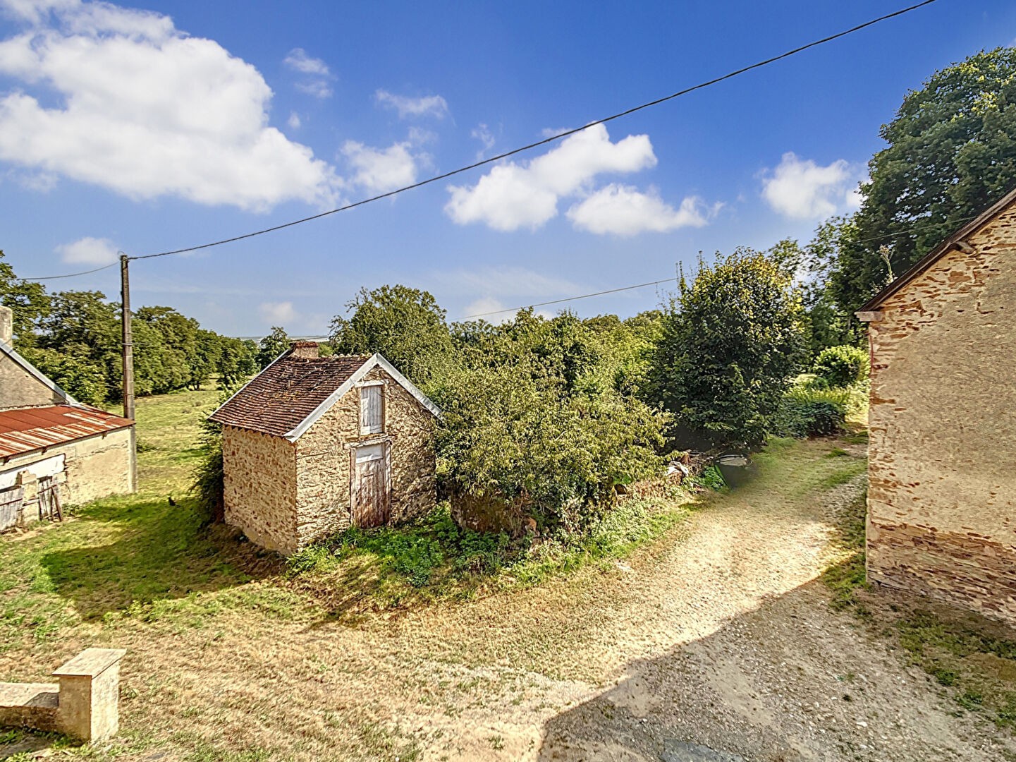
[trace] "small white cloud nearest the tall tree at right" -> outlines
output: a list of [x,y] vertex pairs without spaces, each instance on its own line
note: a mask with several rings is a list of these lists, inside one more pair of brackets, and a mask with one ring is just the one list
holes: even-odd
[[762,180],[762,197],[776,212],[796,220],[817,220],[855,209],[858,170],[845,159],[822,167],[792,152]]

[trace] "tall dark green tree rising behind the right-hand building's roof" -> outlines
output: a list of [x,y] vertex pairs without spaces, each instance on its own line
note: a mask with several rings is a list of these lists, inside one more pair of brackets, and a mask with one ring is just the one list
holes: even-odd
[[881,129],[862,206],[834,241],[830,289],[852,312],[1013,188],[1016,48],[970,56],[908,93]]

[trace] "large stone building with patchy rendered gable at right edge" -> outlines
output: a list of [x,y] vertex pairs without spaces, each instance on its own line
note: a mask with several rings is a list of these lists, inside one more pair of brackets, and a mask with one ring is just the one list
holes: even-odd
[[1016,624],[1016,191],[858,316],[869,579]]

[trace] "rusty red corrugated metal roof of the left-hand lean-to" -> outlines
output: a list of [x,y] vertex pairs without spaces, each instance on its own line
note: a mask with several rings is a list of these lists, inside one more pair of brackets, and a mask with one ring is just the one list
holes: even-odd
[[84,405],[3,410],[0,411],[0,457],[64,445],[133,423],[128,418]]

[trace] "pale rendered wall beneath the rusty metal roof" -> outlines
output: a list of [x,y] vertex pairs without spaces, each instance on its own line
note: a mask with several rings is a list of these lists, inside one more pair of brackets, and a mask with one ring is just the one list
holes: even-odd
[[15,455],[0,462],[0,472],[14,471],[24,487],[25,521],[39,518],[35,504],[38,479],[31,464],[59,456],[64,457],[64,470],[57,474],[60,502],[63,506],[82,505],[111,494],[129,494],[134,483],[133,428],[119,428],[103,434],[85,436],[65,445]]

